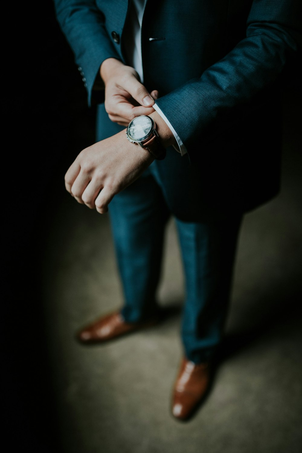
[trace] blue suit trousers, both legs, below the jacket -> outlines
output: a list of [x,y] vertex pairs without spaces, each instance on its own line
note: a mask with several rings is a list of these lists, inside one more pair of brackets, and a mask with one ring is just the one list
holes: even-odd
[[[115,195],[109,213],[125,297],[121,313],[127,322],[146,320],[158,312],[164,231],[173,215],[154,163]],[[241,218],[184,222],[174,217],[185,273],[182,344],[196,363],[210,360],[221,341]]]

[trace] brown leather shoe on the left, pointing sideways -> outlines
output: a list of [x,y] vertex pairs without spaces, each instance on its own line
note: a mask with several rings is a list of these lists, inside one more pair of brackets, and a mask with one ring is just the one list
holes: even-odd
[[157,323],[157,319],[151,319],[144,323],[126,323],[119,311],[107,314],[96,322],[83,328],[77,339],[82,343],[101,343],[112,340],[116,337],[148,328]]

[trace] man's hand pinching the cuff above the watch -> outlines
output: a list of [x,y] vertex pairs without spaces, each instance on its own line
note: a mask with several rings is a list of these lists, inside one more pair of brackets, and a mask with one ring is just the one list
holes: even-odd
[[152,106],[158,92],[149,93],[133,67],[107,58],[101,64],[100,74],[105,83],[105,110],[111,121],[128,126],[135,116],[150,115],[154,111]]

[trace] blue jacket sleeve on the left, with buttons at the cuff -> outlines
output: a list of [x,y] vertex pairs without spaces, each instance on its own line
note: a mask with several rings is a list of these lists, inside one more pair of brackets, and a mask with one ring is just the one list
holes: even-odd
[[106,58],[117,58],[105,29],[105,18],[94,0],[53,0],[58,23],[85,77],[88,105],[92,92],[102,89],[99,69]]

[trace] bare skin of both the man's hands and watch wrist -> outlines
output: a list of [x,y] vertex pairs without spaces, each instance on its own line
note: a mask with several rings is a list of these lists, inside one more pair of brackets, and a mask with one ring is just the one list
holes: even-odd
[[[176,145],[168,125],[152,107],[158,92],[149,93],[134,68],[107,58],[100,73],[110,120],[127,126],[135,116],[148,115],[156,124],[163,146]],[[133,183],[154,160],[148,150],[130,143],[125,131],[83,149],[65,174],[66,190],[77,202],[100,214],[107,212],[115,194]]]

